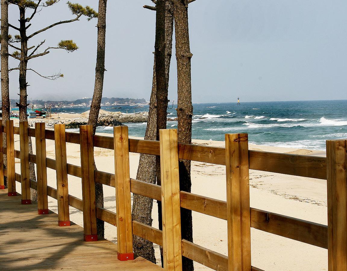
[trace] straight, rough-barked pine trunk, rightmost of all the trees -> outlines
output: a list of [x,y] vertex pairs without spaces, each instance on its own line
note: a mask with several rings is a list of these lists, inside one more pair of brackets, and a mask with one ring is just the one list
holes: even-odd
[[[188,0],[174,0],[174,20],[177,59],[178,142],[192,143],[192,85],[189,46]],[[180,190],[191,192],[191,161],[179,161]],[[192,211],[181,209],[182,239],[193,242]],[[183,257],[183,270],[194,270],[193,261]]]

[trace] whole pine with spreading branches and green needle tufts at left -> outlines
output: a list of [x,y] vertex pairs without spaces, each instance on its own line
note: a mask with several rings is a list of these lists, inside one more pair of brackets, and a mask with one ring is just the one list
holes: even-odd
[[[62,20],[60,22],[51,24],[49,26],[46,26],[38,31],[35,31],[32,34],[27,34],[29,27],[31,27],[31,20],[34,18],[36,14],[38,14],[38,11],[49,8],[53,6],[54,4],[58,3],[60,0],[48,0],[48,1],[42,1],[42,0],[8,0],[8,3],[16,5],[19,9],[19,26],[14,26],[9,24],[9,27],[15,29],[19,32],[19,34],[14,35],[14,38],[9,40],[8,45],[15,49],[16,51],[9,53],[9,56],[19,61],[19,65],[16,68],[9,69],[11,70],[19,70],[19,103],[16,103],[16,105],[19,107],[19,120],[20,121],[26,121],[27,120],[27,106],[29,105],[27,103],[27,87],[28,83],[26,81],[26,75],[27,71],[33,71],[37,75],[50,79],[55,80],[60,77],[63,77],[64,75],[61,73],[56,73],[49,76],[41,75],[39,72],[32,68],[28,68],[28,61],[35,59],[37,57],[43,57],[46,54],[50,53],[51,49],[63,49],[67,52],[74,52],[78,49],[76,43],[74,43],[72,40],[62,40],[58,43],[57,46],[48,47],[43,52],[38,52],[41,48],[41,46],[45,43],[45,40],[40,42],[36,46],[28,47],[28,41],[35,37],[38,34],[41,34],[57,25],[66,24],[66,23],[72,23],[75,21],[78,21],[81,16],[86,16],[87,20],[91,20],[93,18],[98,17],[98,13],[93,10],[91,7],[86,6],[83,7],[77,3],[71,3],[67,2],[67,5],[72,12],[73,15],[75,15],[75,18],[70,20]],[[26,16],[26,13],[28,10],[32,10],[29,17]],[[18,47],[17,44],[19,43],[20,47]],[[31,137],[29,137],[29,152],[32,153],[32,144],[31,144]],[[30,178],[35,178],[35,167],[33,163],[30,163]],[[37,201],[37,194],[32,190],[32,201]]]

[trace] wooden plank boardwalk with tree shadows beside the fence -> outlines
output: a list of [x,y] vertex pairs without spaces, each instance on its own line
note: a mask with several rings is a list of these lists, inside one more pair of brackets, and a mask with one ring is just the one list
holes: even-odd
[[[136,257],[136,256],[135,256]],[[0,270],[159,270],[137,257],[118,261],[117,245],[83,241],[83,228],[58,227],[58,215],[37,214],[37,205],[0,190]]]

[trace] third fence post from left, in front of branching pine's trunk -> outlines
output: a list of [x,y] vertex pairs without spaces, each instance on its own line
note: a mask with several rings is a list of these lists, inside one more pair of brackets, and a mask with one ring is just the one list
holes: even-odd
[[29,168],[29,135],[28,122],[19,121],[20,145],[20,185],[22,186],[22,204],[31,204],[30,199],[30,168]]

